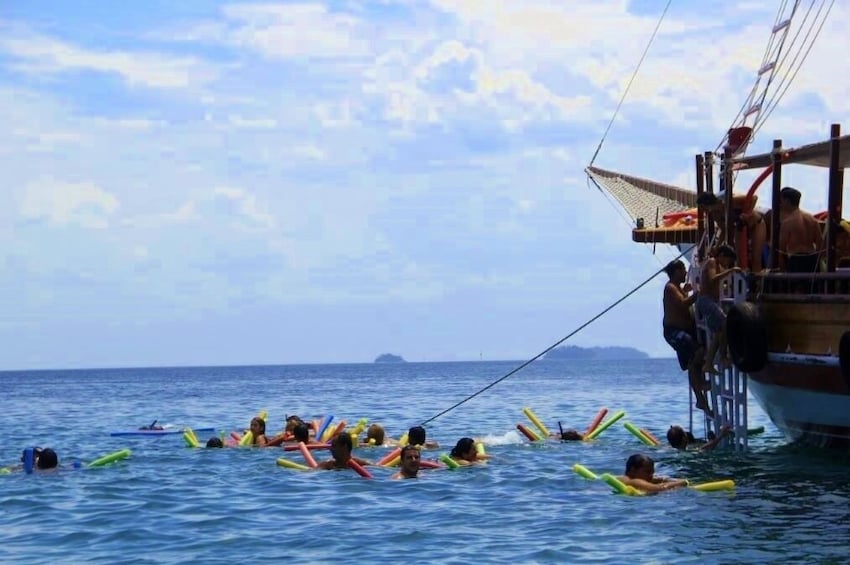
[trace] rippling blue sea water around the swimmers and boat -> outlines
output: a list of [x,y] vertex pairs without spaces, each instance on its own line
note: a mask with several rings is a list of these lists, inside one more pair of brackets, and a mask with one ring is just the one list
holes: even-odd
[[[275,464],[300,462],[292,452],[191,449],[179,434],[110,437],[154,419],[241,430],[264,409],[270,433],[287,414],[333,414],[398,438],[517,364],[0,373],[0,465],[38,445],[56,449],[63,467],[0,476],[0,562],[846,562],[850,459],[786,445],[754,401],[750,427],[766,431],[746,454],[647,448],[620,423],[595,442],[532,445],[516,432],[530,426],[526,406],[550,429],[584,429],[604,406],[663,440],[670,424],[688,424],[686,377],[672,359],[536,362],[427,426],[441,444],[429,457],[473,436],[484,438],[488,464],[417,480],[389,480],[384,468],[373,480],[293,471]],[[122,448],[129,459],[71,468]],[[355,453],[374,461],[386,452]],[[637,452],[658,474],[732,478],[737,489],[625,497],[571,470],[621,474]]]

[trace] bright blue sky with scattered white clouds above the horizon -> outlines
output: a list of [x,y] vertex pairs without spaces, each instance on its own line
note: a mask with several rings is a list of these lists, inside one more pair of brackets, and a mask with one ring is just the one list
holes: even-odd
[[[678,253],[583,172],[665,4],[3,3],[0,369],[536,355]],[[693,187],[777,4],[674,1],[595,164]],[[755,150],[850,115],[848,16]],[[671,356],[663,284],[565,344]]]

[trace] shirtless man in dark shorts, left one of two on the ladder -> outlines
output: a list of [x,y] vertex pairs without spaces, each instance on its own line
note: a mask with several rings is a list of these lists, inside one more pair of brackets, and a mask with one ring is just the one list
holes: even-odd
[[[679,358],[679,367],[688,371],[688,381],[697,399],[697,408],[708,410],[706,398],[706,382],[702,376],[702,357],[705,353],[697,342],[694,317],[691,305],[696,302],[696,294],[688,293],[691,285],[685,283],[687,271],[685,264],[679,260],[671,261],[664,267],[664,272],[670,280],[664,285],[664,340],[670,344]],[[684,286],[683,286],[683,283]]]

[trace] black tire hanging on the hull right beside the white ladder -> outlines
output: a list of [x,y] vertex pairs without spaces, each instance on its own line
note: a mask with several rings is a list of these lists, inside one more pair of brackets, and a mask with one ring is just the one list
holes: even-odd
[[[739,371],[754,373],[767,364],[767,325],[752,302],[733,304],[726,315],[726,338],[732,363]],[[850,339],[850,338],[848,338]],[[850,367],[850,342],[848,342]]]

